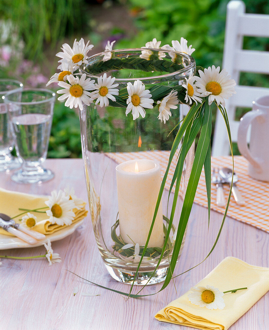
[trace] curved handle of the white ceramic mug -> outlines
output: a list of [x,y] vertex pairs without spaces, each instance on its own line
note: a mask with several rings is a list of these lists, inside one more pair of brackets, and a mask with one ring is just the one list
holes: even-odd
[[240,123],[239,123],[239,128],[238,128],[238,138],[237,138],[237,146],[238,149],[241,153],[241,155],[243,155],[251,164],[253,167],[257,168],[257,171],[262,171],[261,168],[261,163],[258,161],[257,158],[253,158],[251,153],[250,153],[250,149],[248,148],[248,144],[247,144],[247,132],[248,132],[248,128],[252,122],[253,119],[255,118],[261,118],[264,119],[263,115],[259,112],[254,112],[254,111],[250,111],[247,112],[241,119],[240,119]]

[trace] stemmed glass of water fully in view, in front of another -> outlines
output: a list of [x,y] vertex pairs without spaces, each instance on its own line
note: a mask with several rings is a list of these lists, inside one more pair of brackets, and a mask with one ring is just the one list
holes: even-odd
[[54,102],[55,93],[48,89],[6,94],[15,148],[22,161],[22,168],[11,177],[13,181],[35,183],[53,178],[53,172],[41,164],[47,157]]

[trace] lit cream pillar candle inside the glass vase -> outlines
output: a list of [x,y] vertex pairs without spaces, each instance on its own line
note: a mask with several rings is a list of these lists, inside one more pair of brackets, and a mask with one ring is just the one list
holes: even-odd
[[[128,160],[116,167],[119,231],[125,243],[144,246],[161,185],[160,165],[148,159]],[[148,247],[163,247],[160,203]]]

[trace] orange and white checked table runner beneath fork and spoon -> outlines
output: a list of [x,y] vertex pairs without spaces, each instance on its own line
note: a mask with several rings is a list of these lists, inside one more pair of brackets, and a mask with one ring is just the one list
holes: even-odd
[[[170,151],[140,151],[129,153],[108,153],[110,158],[117,163],[122,163],[130,159],[152,159],[157,161],[161,167],[161,175],[164,175]],[[170,172],[167,177],[165,188],[169,189],[176,162],[171,164]],[[211,167],[232,167],[232,157],[212,157]],[[248,223],[259,229],[269,232],[269,182],[262,182],[252,179],[248,173],[248,162],[243,156],[234,156],[234,171],[238,175],[237,186],[242,197],[246,201],[245,206],[235,203],[233,196],[227,215],[236,220]],[[228,198],[229,185],[224,184],[224,195]],[[202,171],[201,178],[197,187],[194,202],[207,208],[207,194],[205,185],[205,174]],[[224,213],[225,208],[220,208],[216,204],[216,187],[211,186],[211,209],[219,213]]]

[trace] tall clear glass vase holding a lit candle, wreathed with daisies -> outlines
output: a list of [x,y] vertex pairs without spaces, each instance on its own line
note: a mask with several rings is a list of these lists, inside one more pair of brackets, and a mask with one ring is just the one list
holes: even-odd
[[[177,89],[195,72],[194,59],[166,50],[122,49],[103,52],[88,59],[81,73],[95,82],[104,72],[116,77],[118,89],[137,79],[147,86]],[[105,56],[105,57],[104,57]],[[109,57],[108,60],[105,60]],[[127,96],[126,96],[127,99]],[[184,100],[182,100],[184,102]],[[113,103],[113,102],[112,102]],[[127,106],[127,104],[126,104]],[[180,109],[171,109],[168,120],[158,118],[158,105],[145,109],[144,118],[133,120],[126,106],[100,107],[94,103],[80,111],[82,150],[93,231],[101,257],[116,280],[132,283],[154,215],[161,181],[171,147],[179,129]],[[180,148],[180,146],[179,146]],[[163,258],[155,269],[166,237],[174,190],[169,187],[177,153],[169,170],[151,237],[139,267],[135,284],[164,281],[174,247],[182,200],[194,157],[194,146],[187,154],[172,230]],[[159,197],[160,198],[160,197]],[[179,253],[179,257],[182,252]]]

